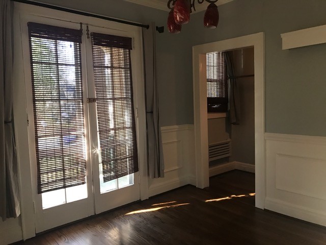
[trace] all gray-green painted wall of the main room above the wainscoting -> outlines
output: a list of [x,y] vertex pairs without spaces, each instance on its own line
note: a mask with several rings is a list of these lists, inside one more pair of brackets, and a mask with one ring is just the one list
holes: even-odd
[[[168,14],[121,0],[40,2],[158,26]],[[157,34],[161,126],[193,124],[193,45],[265,32],[266,132],[326,136],[326,44],[282,51],[280,37],[326,24],[326,1],[234,0],[219,11],[215,30],[203,28],[199,12],[180,34]]]

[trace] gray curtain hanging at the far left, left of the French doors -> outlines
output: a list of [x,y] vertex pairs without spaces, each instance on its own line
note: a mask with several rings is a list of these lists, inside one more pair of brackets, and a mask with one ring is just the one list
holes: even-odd
[[0,0],[0,217],[20,214],[17,160],[13,130],[13,5]]

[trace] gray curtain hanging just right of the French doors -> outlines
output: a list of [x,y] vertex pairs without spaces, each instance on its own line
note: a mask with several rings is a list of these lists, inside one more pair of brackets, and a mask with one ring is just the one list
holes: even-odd
[[146,92],[147,160],[150,178],[164,177],[164,160],[158,116],[155,23],[143,29]]

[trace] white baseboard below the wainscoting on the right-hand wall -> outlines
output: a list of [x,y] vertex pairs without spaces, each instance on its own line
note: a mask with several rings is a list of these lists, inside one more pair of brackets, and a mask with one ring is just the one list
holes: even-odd
[[326,226],[326,213],[321,213],[316,210],[307,209],[271,198],[265,199],[265,209],[282,213],[290,217],[299,218],[317,225]]

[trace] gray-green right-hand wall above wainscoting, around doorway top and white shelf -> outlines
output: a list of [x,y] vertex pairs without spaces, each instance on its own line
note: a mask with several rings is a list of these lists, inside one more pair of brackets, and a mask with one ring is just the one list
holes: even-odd
[[326,24],[326,1],[235,0],[219,12],[215,30],[203,28],[204,12],[192,16],[187,40],[197,45],[265,33],[266,132],[326,136],[326,44],[283,51],[280,37]]

